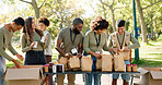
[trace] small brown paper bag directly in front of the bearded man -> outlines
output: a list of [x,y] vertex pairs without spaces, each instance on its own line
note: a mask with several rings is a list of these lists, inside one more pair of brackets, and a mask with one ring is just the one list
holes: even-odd
[[69,59],[69,64],[71,69],[78,69],[80,68],[80,60],[78,57],[73,56]]

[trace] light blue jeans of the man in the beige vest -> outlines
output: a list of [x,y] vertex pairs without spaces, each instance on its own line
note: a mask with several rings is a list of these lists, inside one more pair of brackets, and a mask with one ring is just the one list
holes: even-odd
[[[125,61],[125,64],[130,64],[129,60]],[[118,78],[119,74],[113,74],[113,78]],[[121,74],[121,78],[126,80],[126,82],[129,82],[130,75],[129,74]]]

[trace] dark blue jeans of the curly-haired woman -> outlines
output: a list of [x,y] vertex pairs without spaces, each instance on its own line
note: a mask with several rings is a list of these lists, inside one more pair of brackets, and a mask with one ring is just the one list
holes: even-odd
[[[92,64],[92,71],[96,71],[96,58],[92,57],[93,60],[93,64]],[[91,73],[86,73],[85,74],[85,82],[86,85],[92,85],[92,80],[94,78],[94,85],[101,85],[101,74],[91,74]]]

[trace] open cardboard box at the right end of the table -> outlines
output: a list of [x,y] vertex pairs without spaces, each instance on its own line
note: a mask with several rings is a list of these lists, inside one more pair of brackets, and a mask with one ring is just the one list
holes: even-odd
[[139,68],[141,74],[140,85],[162,85],[161,68]]

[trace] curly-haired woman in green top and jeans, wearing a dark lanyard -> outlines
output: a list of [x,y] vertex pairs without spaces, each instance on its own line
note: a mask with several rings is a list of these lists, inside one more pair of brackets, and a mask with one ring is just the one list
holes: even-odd
[[[91,54],[93,60],[92,71],[96,71],[96,60],[102,58],[102,50],[116,51],[117,49],[108,48],[105,29],[108,27],[108,22],[102,16],[96,16],[90,25],[91,31],[86,32],[83,40],[84,56]],[[94,85],[101,85],[99,74],[86,74],[86,84],[92,85],[94,77]]]

